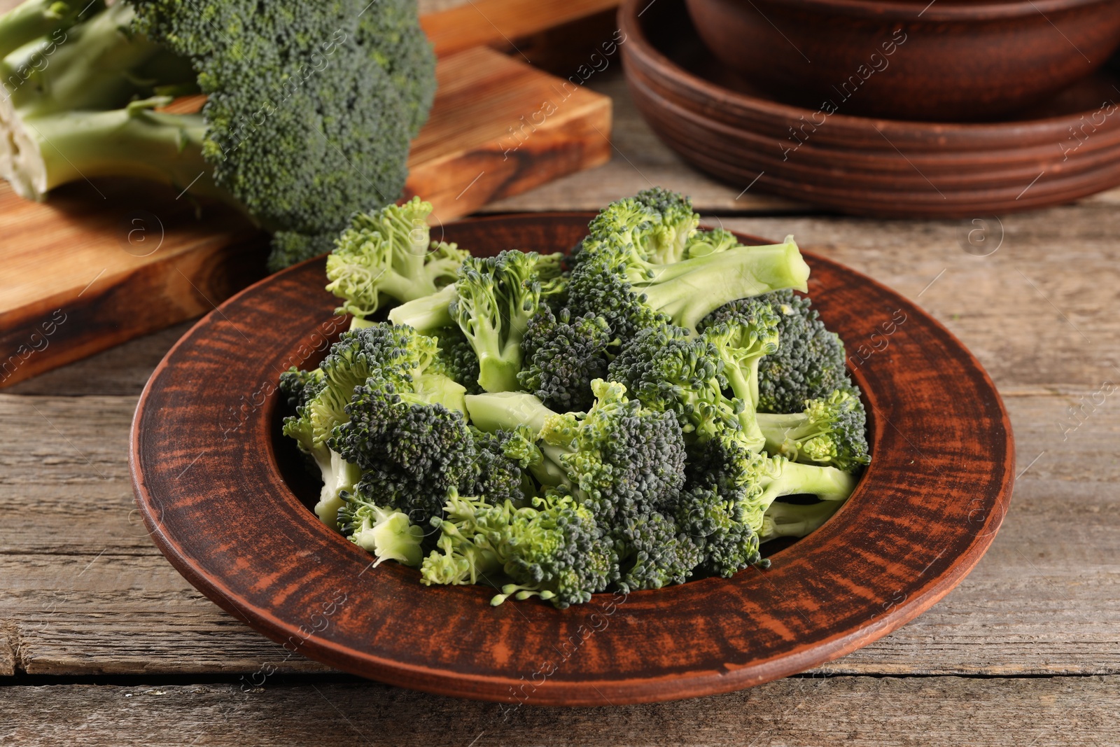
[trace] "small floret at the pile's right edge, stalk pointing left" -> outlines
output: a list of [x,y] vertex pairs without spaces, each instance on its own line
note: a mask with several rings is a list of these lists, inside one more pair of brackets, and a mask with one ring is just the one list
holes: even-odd
[[803,412],[759,413],[757,418],[769,454],[849,473],[871,460],[867,454],[867,413],[859,396],[850,391],[837,390],[825,399],[810,400]]

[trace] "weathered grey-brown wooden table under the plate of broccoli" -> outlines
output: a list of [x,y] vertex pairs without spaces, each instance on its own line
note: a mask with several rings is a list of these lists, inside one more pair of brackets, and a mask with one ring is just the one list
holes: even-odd
[[[972,575],[827,666],[676,703],[503,721],[288,659],[195,591],[134,511],[129,423],[183,325],[0,394],[0,745],[1120,745],[1120,190],[984,224],[823,215],[692,171],[613,71],[589,85],[615,99],[614,160],[489,209],[660,184],[921,304],[987,366],[1018,442],[1011,511]],[[998,251],[967,252],[984,225]]]

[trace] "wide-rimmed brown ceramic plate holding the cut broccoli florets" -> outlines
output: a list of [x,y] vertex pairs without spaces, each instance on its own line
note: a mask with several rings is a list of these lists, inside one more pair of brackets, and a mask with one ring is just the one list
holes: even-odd
[[[446,237],[562,251],[590,214],[494,216]],[[744,237],[752,243],[762,240]],[[806,253],[810,292],[848,343],[874,460],[823,527],[768,571],[554,609],[429,588],[329,531],[279,435],[277,377],[340,332],[312,260],[233,297],[152,374],[132,478],[152,539],[187,580],[299,654],[417,690],[597,706],[726,692],[855,651],[913,619],[980,560],[1007,511],[1014,449],[988,375],[944,327],[874,280]]]

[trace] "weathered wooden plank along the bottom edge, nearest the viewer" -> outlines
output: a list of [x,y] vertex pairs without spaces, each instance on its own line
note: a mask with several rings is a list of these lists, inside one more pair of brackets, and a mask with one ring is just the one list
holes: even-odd
[[[606,706],[606,703],[604,703]],[[99,745],[1118,744],[1120,678],[788,679],[619,708],[521,708],[375,684],[10,687],[0,740]]]

